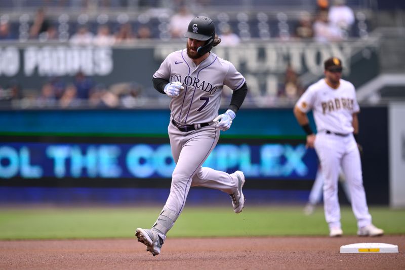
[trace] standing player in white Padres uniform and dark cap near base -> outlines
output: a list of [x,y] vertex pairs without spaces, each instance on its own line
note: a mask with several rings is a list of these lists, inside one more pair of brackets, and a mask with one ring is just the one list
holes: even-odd
[[[294,114],[307,134],[307,147],[315,147],[323,174],[323,201],[330,236],[342,236],[338,201],[339,170],[346,176],[351,206],[357,219],[358,236],[381,236],[384,231],[372,224],[363,187],[356,135],[359,106],[354,86],[343,79],[342,62],[336,57],[324,63],[325,79],[309,86],[297,101]],[[306,113],[313,111],[316,136]]]

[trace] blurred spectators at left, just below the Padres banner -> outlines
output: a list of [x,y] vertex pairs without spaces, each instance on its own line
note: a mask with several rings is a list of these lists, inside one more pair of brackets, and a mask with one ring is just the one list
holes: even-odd
[[141,93],[142,86],[135,82],[107,87],[77,72],[72,81],[50,78],[39,93],[25,95],[19,82],[12,80],[6,88],[0,86],[0,108],[133,108],[144,102]]

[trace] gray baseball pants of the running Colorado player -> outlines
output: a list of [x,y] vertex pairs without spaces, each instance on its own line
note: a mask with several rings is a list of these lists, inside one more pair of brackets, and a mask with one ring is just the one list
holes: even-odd
[[220,130],[207,126],[182,132],[173,124],[168,127],[170,145],[176,167],[172,175],[170,195],[164,209],[180,215],[190,186],[204,186],[231,194],[237,188],[237,178],[226,172],[201,167],[217,145]]

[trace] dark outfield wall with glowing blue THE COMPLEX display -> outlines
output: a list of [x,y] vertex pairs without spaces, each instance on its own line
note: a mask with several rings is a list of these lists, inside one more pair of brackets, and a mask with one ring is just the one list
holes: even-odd
[[[387,108],[363,107],[359,121],[368,200],[388,204]],[[167,190],[175,166],[168,122],[169,110],[0,111],[0,202],[58,198],[129,202],[126,188],[132,189],[137,202],[148,198],[145,192],[155,197],[150,190]],[[263,201],[268,197],[304,202],[317,169],[316,153],[304,143],[292,108],[244,109],[232,128],[221,134],[205,166],[244,171],[249,179],[246,188],[259,190],[254,196]],[[108,189],[115,190],[112,197]],[[198,190],[202,195],[190,200],[211,192]],[[164,191],[157,193],[166,199]],[[221,196],[221,192],[209,195]]]

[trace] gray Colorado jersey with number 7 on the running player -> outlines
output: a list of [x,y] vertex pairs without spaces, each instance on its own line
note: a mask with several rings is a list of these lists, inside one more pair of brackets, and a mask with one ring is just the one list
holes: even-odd
[[223,86],[237,90],[245,83],[229,61],[211,52],[196,66],[185,49],[171,53],[153,77],[183,84],[184,91],[170,101],[171,117],[182,124],[211,122],[218,116]]

